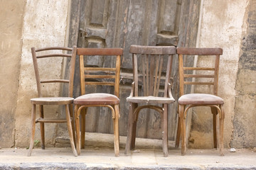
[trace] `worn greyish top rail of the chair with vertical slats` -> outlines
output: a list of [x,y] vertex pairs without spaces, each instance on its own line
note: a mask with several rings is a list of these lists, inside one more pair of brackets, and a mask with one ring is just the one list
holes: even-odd
[[129,52],[146,55],[174,55],[176,54],[176,47],[131,45]]

